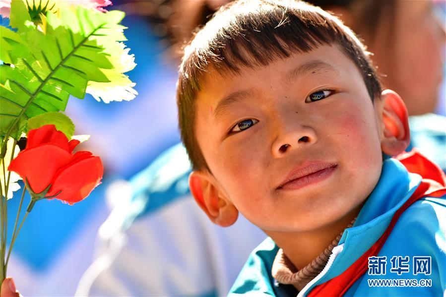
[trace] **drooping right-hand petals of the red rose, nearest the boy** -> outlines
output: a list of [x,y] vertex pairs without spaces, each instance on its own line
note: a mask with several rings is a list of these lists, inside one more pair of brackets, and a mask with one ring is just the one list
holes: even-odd
[[104,168],[101,159],[91,156],[90,152],[77,152],[69,164],[58,171],[47,196],[62,191],[56,199],[73,204],[87,197],[101,183]]

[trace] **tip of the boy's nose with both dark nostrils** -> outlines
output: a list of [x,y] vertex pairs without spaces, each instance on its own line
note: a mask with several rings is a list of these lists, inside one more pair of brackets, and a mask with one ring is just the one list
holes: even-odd
[[294,126],[282,131],[272,145],[272,155],[275,158],[284,156],[288,151],[302,148],[317,142],[316,132],[308,126]]

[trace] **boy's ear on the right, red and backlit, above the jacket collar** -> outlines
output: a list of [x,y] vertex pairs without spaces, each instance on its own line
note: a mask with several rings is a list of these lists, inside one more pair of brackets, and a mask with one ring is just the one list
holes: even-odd
[[410,142],[406,105],[392,90],[381,93],[381,150],[389,156],[402,153]]

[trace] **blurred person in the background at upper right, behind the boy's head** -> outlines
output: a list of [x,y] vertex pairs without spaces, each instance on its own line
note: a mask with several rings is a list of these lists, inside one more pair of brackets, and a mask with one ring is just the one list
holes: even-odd
[[308,2],[332,11],[364,40],[383,86],[398,92],[412,116],[407,151],[418,148],[445,171],[446,1]]

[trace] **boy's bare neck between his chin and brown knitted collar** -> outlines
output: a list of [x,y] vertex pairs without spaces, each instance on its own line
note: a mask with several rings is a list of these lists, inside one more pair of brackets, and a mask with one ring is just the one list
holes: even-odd
[[316,230],[294,233],[267,230],[264,232],[283,249],[297,270],[300,270],[316,259],[347,228],[348,224],[358,216],[364,203],[365,201],[343,218]]

